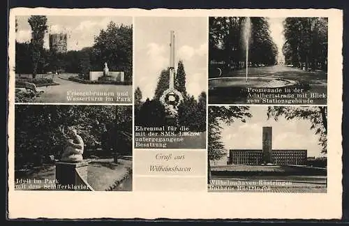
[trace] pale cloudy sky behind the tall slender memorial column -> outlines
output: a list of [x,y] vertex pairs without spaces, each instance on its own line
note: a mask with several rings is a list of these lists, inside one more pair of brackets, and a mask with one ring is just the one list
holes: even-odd
[[186,90],[197,98],[207,90],[207,17],[135,17],[135,87],[153,98],[161,70],[170,63],[170,31],[175,34],[175,68],[181,59]]

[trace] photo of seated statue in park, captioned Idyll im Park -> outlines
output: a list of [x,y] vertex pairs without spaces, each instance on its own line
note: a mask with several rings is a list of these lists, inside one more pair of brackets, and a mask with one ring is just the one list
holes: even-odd
[[15,190],[132,190],[132,106],[15,105]]

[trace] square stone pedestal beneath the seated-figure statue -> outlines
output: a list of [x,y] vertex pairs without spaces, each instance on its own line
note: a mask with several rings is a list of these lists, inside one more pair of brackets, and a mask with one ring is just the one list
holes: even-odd
[[87,172],[90,160],[82,160],[76,163],[56,163],[56,185],[59,190],[89,190]]

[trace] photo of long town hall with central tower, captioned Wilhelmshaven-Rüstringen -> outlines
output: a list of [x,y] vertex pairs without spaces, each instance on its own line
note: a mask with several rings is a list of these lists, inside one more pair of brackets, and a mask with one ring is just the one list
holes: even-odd
[[327,193],[327,107],[209,106],[208,191]]

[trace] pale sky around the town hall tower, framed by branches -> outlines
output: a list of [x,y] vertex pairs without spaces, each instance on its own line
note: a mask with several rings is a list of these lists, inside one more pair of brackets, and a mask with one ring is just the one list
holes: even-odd
[[[262,149],[262,127],[272,126],[272,149],[306,149],[308,156],[319,157],[321,146],[318,135],[311,130],[311,123],[303,119],[278,121],[267,119],[267,106],[251,106],[252,117],[246,123],[235,121],[230,126],[222,124],[222,139],[225,149]],[[227,153],[228,157],[228,153]],[[223,157],[225,164],[227,158]]]

